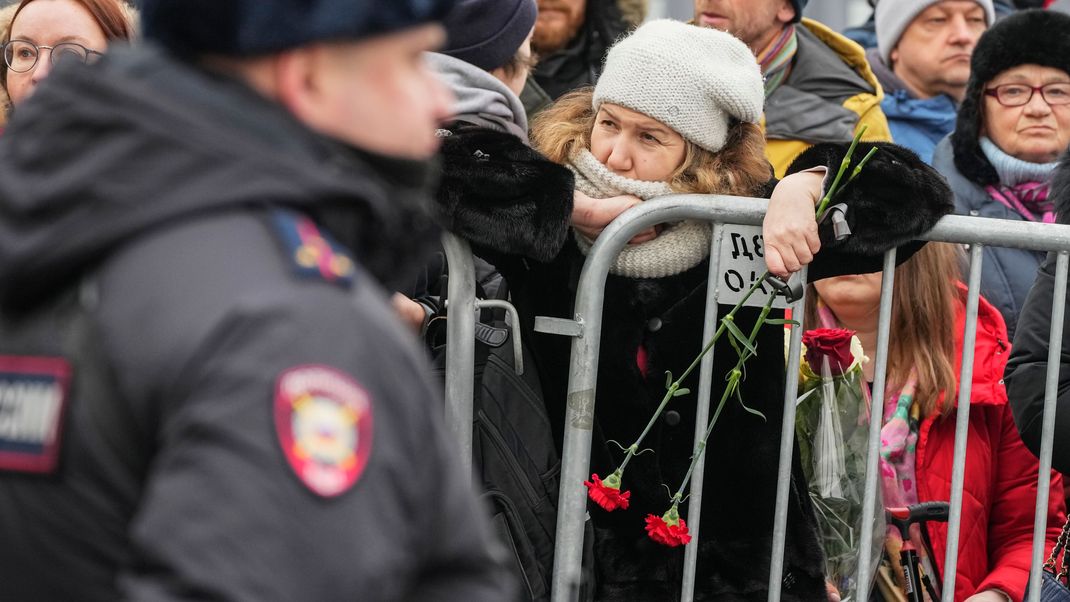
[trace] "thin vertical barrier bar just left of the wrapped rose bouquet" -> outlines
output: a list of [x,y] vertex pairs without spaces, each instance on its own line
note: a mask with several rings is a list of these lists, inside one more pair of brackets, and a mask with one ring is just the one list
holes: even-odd
[[[799,323],[806,313],[807,268],[799,272],[802,296],[792,305],[792,318]],[[788,496],[792,483],[792,452],[795,449],[795,400],[799,388],[799,354],[802,349],[802,327],[792,328],[788,348],[788,376],[784,384],[784,419],[780,427],[780,465],[777,474],[777,506],[773,515],[773,555],[769,558],[769,602],[780,602],[784,573],[784,540],[788,537]],[[806,492],[802,492],[806,495]]]

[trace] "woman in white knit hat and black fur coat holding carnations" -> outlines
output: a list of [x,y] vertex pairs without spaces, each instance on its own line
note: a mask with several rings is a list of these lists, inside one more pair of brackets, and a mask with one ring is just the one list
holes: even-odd
[[[839,244],[826,244],[814,256],[822,246],[813,214],[823,168],[838,166],[846,144],[814,146],[793,171],[816,169],[789,175],[778,185],[771,181],[758,125],[763,98],[761,73],[742,42],[713,29],[648,22],[613,47],[595,89],[562,97],[534,124],[536,148],[569,167],[576,177],[571,222],[560,225],[571,229],[572,236],[553,261],[519,261],[508,235],[524,231],[550,207],[453,209],[457,215],[478,214],[496,225],[473,242],[498,253],[496,265],[513,287],[525,340],[535,348],[559,444],[569,341],[535,334],[531,325],[534,315],[571,315],[580,267],[607,216],[674,192],[771,194],[765,225],[770,269],[786,274],[812,260],[811,278],[820,278],[878,271],[883,251],[897,245],[904,245],[901,254],[908,257],[918,248],[908,242],[950,211],[950,192],[935,172],[912,153],[884,145],[845,195],[855,233]],[[869,146],[863,144],[858,156]],[[611,269],[593,473],[607,476],[616,468],[623,453],[612,441],[626,444],[636,438],[664,393],[666,371],[681,374],[701,349],[709,241],[708,225],[664,225],[633,238]],[[756,311],[745,309],[737,322],[747,331],[755,318]],[[730,403],[707,448],[698,600],[766,598],[783,412],[782,341],[779,327],[761,331],[762,351],[748,364],[742,384],[743,399],[765,419]],[[717,348],[715,383],[724,381],[735,359],[730,345]],[[697,391],[697,376],[690,381],[684,386]],[[713,397],[719,399],[720,391]],[[687,470],[694,398],[692,393],[673,401],[644,442],[655,453],[628,465],[623,489],[631,492],[630,506],[615,512],[591,506],[597,600],[679,598],[682,550],[655,543],[643,524],[644,516],[660,515],[669,507],[662,484],[675,488]],[[792,491],[805,492],[805,483]],[[825,597],[821,557],[809,499],[793,493],[782,600]]]

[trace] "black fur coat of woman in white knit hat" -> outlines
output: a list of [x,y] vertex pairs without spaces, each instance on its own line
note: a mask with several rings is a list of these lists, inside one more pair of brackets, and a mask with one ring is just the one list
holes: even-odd
[[[492,160],[495,155],[510,156],[518,151],[508,140],[490,135],[469,140],[478,140],[478,148],[463,150],[470,156],[479,151]],[[865,154],[865,146],[858,156]],[[815,146],[799,157],[793,171],[819,165],[836,169],[845,149],[838,144]],[[950,192],[943,179],[910,151],[893,145],[884,149],[849,189],[847,220],[854,235],[839,245],[826,245],[811,268],[815,277],[880,271],[881,253],[892,246],[905,245],[905,259],[919,247],[910,241],[950,212]],[[538,161],[534,165],[541,166]],[[490,167],[476,163],[473,169],[482,173]],[[485,256],[492,258],[509,281],[525,341],[535,351],[560,446],[570,342],[536,334],[532,325],[535,315],[572,314],[583,256],[566,240],[570,235],[571,191],[569,188],[567,195],[562,195],[560,186],[565,182],[535,175],[526,166],[511,166],[496,175],[513,181],[499,182],[495,189],[452,196],[452,206],[442,209],[455,231],[470,237]],[[469,185],[474,182],[463,176],[460,180]],[[503,202],[494,194],[499,188],[525,190],[533,202],[538,198],[537,202],[555,206]],[[771,186],[763,191],[769,190]],[[702,348],[707,271],[708,264],[703,262],[669,278],[610,276],[592,473],[605,477],[616,467],[623,453],[609,441],[624,445],[633,441],[661,400],[664,372],[682,373]],[[722,307],[721,315],[728,310]],[[755,318],[756,310],[743,310],[737,321],[747,331]],[[637,364],[640,346],[647,356],[645,373]],[[783,416],[783,346],[782,327],[766,327],[758,341],[760,354],[748,364],[742,385],[743,398],[766,420],[730,402],[710,437],[698,600],[766,599]],[[715,350],[715,401],[720,397],[717,384],[724,382],[725,371],[734,364],[731,346],[722,344]],[[697,391],[697,373],[684,386]],[[624,488],[632,492],[628,510],[608,513],[591,505],[596,532],[596,599],[630,602],[679,598],[683,550],[654,543],[646,538],[643,525],[646,514],[660,515],[669,507],[670,494],[662,483],[677,487],[687,469],[693,445],[694,407],[693,392],[674,400],[644,443],[655,453],[640,456],[628,466],[624,477]],[[822,552],[797,458],[793,475],[782,599],[820,600],[825,591]],[[686,507],[682,510],[686,518]]]

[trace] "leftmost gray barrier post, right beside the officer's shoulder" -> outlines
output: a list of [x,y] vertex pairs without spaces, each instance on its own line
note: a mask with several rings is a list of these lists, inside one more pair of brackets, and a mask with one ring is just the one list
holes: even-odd
[[461,447],[464,476],[472,478],[472,408],[475,397],[475,261],[463,238],[442,235],[449,266],[446,320],[446,425]]

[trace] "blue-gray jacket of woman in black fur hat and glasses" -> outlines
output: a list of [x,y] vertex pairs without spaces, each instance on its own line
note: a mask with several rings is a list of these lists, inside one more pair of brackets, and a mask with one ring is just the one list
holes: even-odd
[[[898,140],[898,139],[897,139]],[[947,177],[954,192],[954,212],[961,215],[994,217],[1023,221],[1018,212],[993,200],[984,188],[963,175],[954,166],[951,139],[945,138],[936,145],[932,166]],[[1018,325],[1018,314],[1025,303],[1025,295],[1033,287],[1037,268],[1044,253],[1024,249],[984,247],[981,260],[981,294],[996,306],[1007,321],[1011,338]]]

